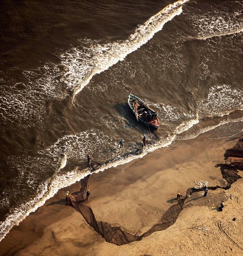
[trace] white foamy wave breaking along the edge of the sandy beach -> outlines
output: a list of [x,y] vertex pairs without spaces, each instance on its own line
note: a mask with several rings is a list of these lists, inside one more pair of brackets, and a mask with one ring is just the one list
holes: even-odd
[[[100,168],[98,168],[95,172],[101,172],[108,168],[115,168],[118,165],[123,165],[125,163],[131,162],[135,159],[142,158],[144,155],[155,151],[158,148],[164,148],[170,146],[176,139],[192,139],[197,137],[198,135],[215,129],[218,126],[230,122],[236,122],[236,121],[243,121],[243,119],[240,120],[228,120],[223,121],[220,124],[216,126],[212,126],[209,128],[201,129],[197,132],[191,133],[190,138],[186,137],[186,135],[180,136],[186,131],[190,131],[191,128],[193,128],[195,125],[199,123],[198,117],[196,116],[194,119],[191,119],[190,121],[184,121],[182,122],[177,128],[175,129],[175,133],[167,136],[164,139],[161,139],[160,141],[154,143],[149,148],[144,148],[142,151],[137,151],[137,153],[134,154],[134,151],[131,151],[130,153],[126,153],[125,155],[117,155],[113,154],[113,159],[105,162]],[[91,174],[91,171],[89,168],[84,168],[82,166],[75,166],[71,170],[67,172],[62,172],[62,168],[65,168],[67,162],[70,160],[70,157],[73,157],[73,151],[74,147],[76,148],[77,145],[79,148],[82,148],[82,142],[76,140],[77,138],[82,138],[84,134],[77,134],[77,135],[71,135],[71,136],[65,136],[61,139],[59,139],[53,146],[47,148],[46,150],[40,151],[39,154],[46,156],[48,158],[55,159],[54,162],[49,162],[50,164],[53,164],[56,167],[56,171],[54,175],[47,179],[45,182],[42,182],[38,188],[37,188],[37,196],[32,198],[29,202],[22,203],[15,209],[11,210],[11,213],[6,216],[6,219],[4,222],[0,223],[0,240],[2,240],[7,233],[10,231],[10,229],[13,228],[14,225],[18,225],[22,220],[26,218],[31,212],[38,209],[40,206],[42,206],[46,200],[52,198],[59,189],[65,188],[67,186],[72,185],[73,183],[81,180],[86,175]],[[95,132],[92,133],[86,133],[87,137],[96,136]],[[76,143],[74,145],[73,143]],[[107,142],[108,143],[108,142]],[[111,147],[111,145],[109,145]],[[137,146],[138,147],[138,146]],[[99,145],[97,146],[99,148]],[[95,148],[93,148],[95,149]],[[76,150],[75,150],[76,151]],[[78,150],[77,150],[78,151]],[[76,151],[76,152],[77,152]],[[82,152],[82,154],[84,154]],[[71,154],[71,155],[70,155]],[[77,157],[77,155],[75,156]],[[79,156],[78,156],[79,157]],[[84,157],[84,155],[82,155]],[[32,160],[33,161],[33,160]],[[36,159],[37,162],[46,162],[45,159]],[[33,166],[31,166],[33,168]],[[12,191],[13,192],[13,191]],[[11,195],[11,193],[6,193],[5,201],[2,202],[4,204],[7,204],[7,195]]]

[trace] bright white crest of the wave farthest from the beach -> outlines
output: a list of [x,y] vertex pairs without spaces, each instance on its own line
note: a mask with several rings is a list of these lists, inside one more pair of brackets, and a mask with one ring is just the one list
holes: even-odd
[[[154,34],[160,31],[164,24],[172,20],[176,15],[182,13],[182,6],[189,0],[179,0],[162,11],[152,16],[149,20],[140,25],[127,40],[106,44],[94,44],[82,50],[73,48],[62,55],[62,64],[66,67],[66,74],[63,82],[67,88],[71,88],[78,94],[92,79],[131,52],[148,42]],[[90,57],[89,57],[90,56]]]

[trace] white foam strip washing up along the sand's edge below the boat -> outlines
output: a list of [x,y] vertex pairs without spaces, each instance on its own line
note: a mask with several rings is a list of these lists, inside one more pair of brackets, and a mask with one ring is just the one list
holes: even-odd
[[[204,129],[201,129],[200,131],[197,131],[197,133],[191,134],[190,138],[187,138],[187,139],[195,138],[199,134],[202,134],[206,131],[215,129],[220,125],[230,123],[230,122],[238,122],[238,121],[243,121],[243,118],[236,119],[236,120],[221,121],[218,125],[204,128]],[[117,158],[113,162],[110,162],[106,165],[102,165],[101,168],[98,168],[95,172],[98,173],[98,172],[104,171],[105,169],[108,169],[108,168],[112,168],[112,167],[115,168],[118,165],[122,165],[122,164],[125,164],[128,162],[131,162],[138,158],[142,158],[144,155],[146,155],[150,152],[153,152],[158,148],[168,147],[169,145],[171,145],[171,143],[175,139],[182,139],[182,138],[180,138],[179,135],[184,133],[185,131],[190,130],[190,128],[192,128],[198,122],[199,122],[198,116],[196,116],[194,119],[191,119],[190,121],[184,121],[175,129],[174,134],[168,136],[164,140],[159,141],[157,144],[151,145],[149,148],[144,149],[144,151],[140,155],[129,155],[128,157],[125,157],[125,158]],[[87,136],[96,135],[94,132],[86,133],[86,134],[87,134]],[[47,152],[49,152],[49,154],[53,155],[53,156],[55,154],[57,154],[57,155],[55,155],[55,158],[59,159],[60,158],[59,155],[60,154],[62,155],[63,152],[65,151],[64,156],[59,161],[60,162],[59,170],[60,170],[61,168],[64,168],[64,166],[66,165],[67,155],[70,154],[70,152],[72,152],[72,147],[74,146],[72,143],[73,143],[73,141],[75,141],[73,138],[75,138],[75,139],[81,138],[81,137],[83,137],[83,135],[84,135],[84,133],[82,133],[82,135],[81,134],[72,135],[69,138],[67,136],[65,136],[65,138],[60,139],[59,141],[57,141],[57,143],[55,143],[55,145],[48,148],[45,151],[45,153],[43,153],[43,155],[47,155],[48,154]],[[69,141],[70,138],[71,138],[71,142]],[[66,141],[66,142],[62,143],[61,141],[62,142]],[[63,146],[64,144],[65,144],[64,147],[59,147],[60,145]],[[55,195],[59,189],[65,188],[65,187],[79,181],[80,179],[84,178],[88,174],[90,174],[90,170],[88,168],[83,169],[81,171],[79,167],[76,167],[72,171],[68,171],[65,174],[60,173],[59,171],[56,171],[51,179],[49,179],[48,181],[43,182],[41,185],[39,185],[39,188],[37,191],[37,196],[35,198],[33,198],[31,201],[29,201],[27,203],[20,205],[16,209],[13,209],[11,211],[11,213],[7,216],[6,220],[4,222],[0,223],[0,230],[1,230],[0,231],[0,240],[2,240],[6,236],[6,234],[9,232],[9,230],[14,225],[18,225],[31,212],[35,211],[40,206],[42,206],[46,202],[46,200],[53,197],[53,195]]]

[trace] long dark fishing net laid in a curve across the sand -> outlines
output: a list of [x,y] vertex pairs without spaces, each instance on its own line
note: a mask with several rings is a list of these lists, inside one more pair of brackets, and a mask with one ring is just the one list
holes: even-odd
[[[241,151],[241,148],[243,147],[243,141],[238,141],[237,146],[234,147],[235,155],[237,155],[237,161],[234,162],[232,159],[235,159],[235,155],[232,153],[233,151],[228,151],[228,153],[225,154],[226,158],[232,157],[229,161],[229,164],[218,164],[216,167],[220,167],[221,173],[223,175],[223,178],[228,182],[226,187],[221,186],[214,186],[214,187],[208,187],[208,189],[216,190],[216,189],[230,189],[230,186],[232,183],[236,182],[237,179],[241,178],[241,176],[237,175],[238,170],[243,170],[243,163],[241,162],[243,160],[243,152]],[[239,152],[241,151],[241,152]],[[236,165],[237,164],[237,165]],[[97,168],[99,166],[99,163],[92,162],[91,168]],[[237,166],[237,168],[236,168]],[[87,185],[90,175],[86,176],[81,181],[81,189],[79,192],[72,193],[70,195],[72,204],[74,208],[81,213],[81,215],[85,218],[86,222],[88,222],[93,229],[101,236],[105,238],[105,240],[109,243],[114,243],[117,245],[122,245],[126,243],[131,243],[134,241],[140,241],[143,237],[150,236],[153,232],[161,231],[164,229],[169,228],[171,225],[173,225],[180,212],[183,210],[183,205],[186,199],[189,197],[189,195],[192,195],[195,192],[204,191],[205,187],[202,188],[190,188],[186,191],[186,196],[184,199],[180,199],[177,204],[172,205],[165,213],[164,215],[158,220],[156,224],[154,224],[148,231],[146,231],[141,236],[136,236],[133,234],[128,233],[126,230],[122,229],[122,227],[112,227],[110,223],[107,222],[98,222],[95,219],[94,213],[92,211],[92,208],[90,206],[89,200],[86,200],[85,194],[87,191]]]

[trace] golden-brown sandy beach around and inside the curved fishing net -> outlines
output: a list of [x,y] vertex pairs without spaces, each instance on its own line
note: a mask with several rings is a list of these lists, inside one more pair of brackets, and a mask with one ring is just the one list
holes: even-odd
[[[177,193],[188,188],[225,186],[217,163],[239,135],[221,139],[176,141],[128,164],[92,174],[89,201],[97,221],[121,226],[141,235],[177,203]],[[238,175],[242,176],[242,172]],[[141,241],[125,245],[107,243],[65,201],[65,192],[79,191],[80,182],[61,189],[0,242],[0,255],[242,255],[243,180],[228,190],[191,195],[175,224]],[[217,207],[225,203],[222,212]],[[234,220],[233,220],[234,219]]]

